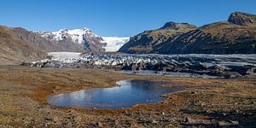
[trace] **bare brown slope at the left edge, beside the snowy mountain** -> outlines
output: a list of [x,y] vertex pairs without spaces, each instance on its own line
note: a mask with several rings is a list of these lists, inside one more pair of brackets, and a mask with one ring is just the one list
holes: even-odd
[[41,39],[22,28],[0,26],[0,65],[43,59],[45,53],[39,47],[48,46],[42,43],[44,38]]

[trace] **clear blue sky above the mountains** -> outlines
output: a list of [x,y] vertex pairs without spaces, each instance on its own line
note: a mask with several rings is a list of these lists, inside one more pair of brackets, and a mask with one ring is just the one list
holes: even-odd
[[129,37],[167,21],[227,20],[234,11],[256,14],[256,0],[1,0],[0,25],[32,31],[86,26],[102,36]]

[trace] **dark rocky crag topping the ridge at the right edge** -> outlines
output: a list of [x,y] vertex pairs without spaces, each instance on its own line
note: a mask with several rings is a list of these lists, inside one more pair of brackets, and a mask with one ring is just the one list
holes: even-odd
[[245,26],[249,23],[256,23],[256,15],[250,15],[243,12],[234,12],[228,20],[230,23]]

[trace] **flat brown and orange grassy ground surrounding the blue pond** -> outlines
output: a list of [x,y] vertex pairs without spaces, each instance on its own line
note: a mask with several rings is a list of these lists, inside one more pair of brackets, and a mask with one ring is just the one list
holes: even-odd
[[[169,81],[172,86],[185,86],[174,94],[166,94],[163,102],[150,105],[137,105],[134,108],[120,110],[84,110],[79,108],[48,108],[46,98],[63,92],[89,88],[114,86],[123,79],[148,79]],[[99,69],[54,69],[38,67],[0,67],[0,124],[23,125],[26,123],[42,126],[47,123],[48,116],[58,116],[62,124],[70,120],[70,109],[79,116],[79,124],[90,127],[100,121],[113,127],[111,120],[119,120],[119,124],[143,126],[140,119],[161,120],[176,118],[174,121],[158,123],[151,126],[181,125],[184,116],[193,119],[219,118],[215,113],[252,113],[255,110],[255,79],[192,79],[170,78],[163,76],[138,76],[114,73]],[[55,90],[59,86],[60,90]],[[196,93],[195,93],[196,92]],[[175,102],[178,105],[173,106]],[[171,105],[170,105],[171,104]],[[164,115],[161,113],[165,113]],[[189,112],[189,113],[188,113]],[[191,113],[190,113],[191,112]],[[192,113],[193,112],[193,113]],[[237,118],[245,117],[237,114]],[[252,120],[250,115],[247,121]],[[25,118],[25,119],[24,119]],[[46,119],[45,119],[46,118]],[[232,117],[230,117],[232,118]],[[236,119],[236,118],[235,118]],[[64,122],[63,122],[64,121]],[[130,122],[130,123],[129,123]],[[246,122],[245,122],[246,123]],[[144,125],[145,126],[145,125]],[[150,124],[149,124],[150,126]],[[151,127],[150,126],[150,127]]]

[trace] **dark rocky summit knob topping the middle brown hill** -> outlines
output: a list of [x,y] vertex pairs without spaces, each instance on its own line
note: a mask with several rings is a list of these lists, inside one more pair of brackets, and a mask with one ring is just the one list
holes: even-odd
[[160,29],[174,29],[174,30],[179,30],[183,28],[196,28],[194,25],[190,25],[188,23],[177,23],[177,22],[167,22],[165,26],[161,27]]

